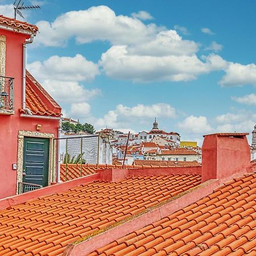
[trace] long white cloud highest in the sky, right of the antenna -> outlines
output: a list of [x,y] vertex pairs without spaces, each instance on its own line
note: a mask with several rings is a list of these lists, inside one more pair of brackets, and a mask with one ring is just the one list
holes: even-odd
[[154,38],[160,29],[155,24],[145,25],[137,18],[115,15],[107,6],[69,11],[52,23],[41,20],[36,25],[40,34],[35,43],[43,46],[64,46],[72,37],[80,44],[93,40],[108,40],[113,44],[145,42]]

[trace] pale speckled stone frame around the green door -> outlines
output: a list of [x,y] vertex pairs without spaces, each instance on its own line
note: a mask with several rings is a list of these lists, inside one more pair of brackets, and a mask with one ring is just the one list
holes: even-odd
[[38,131],[18,131],[18,159],[17,159],[17,182],[16,182],[16,194],[18,195],[18,183],[22,182],[23,176],[23,148],[24,148],[24,137],[34,138],[48,138],[49,139],[49,165],[48,165],[48,185],[55,180],[55,172],[53,172],[53,138],[54,133],[39,133]]

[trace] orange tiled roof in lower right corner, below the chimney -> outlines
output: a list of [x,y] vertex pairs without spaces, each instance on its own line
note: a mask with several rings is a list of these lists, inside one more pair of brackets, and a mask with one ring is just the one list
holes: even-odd
[[256,255],[256,174],[89,254]]

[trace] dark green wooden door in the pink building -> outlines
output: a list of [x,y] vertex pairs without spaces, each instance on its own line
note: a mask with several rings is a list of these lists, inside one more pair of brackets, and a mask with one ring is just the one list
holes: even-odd
[[24,138],[23,182],[48,185],[49,139]]

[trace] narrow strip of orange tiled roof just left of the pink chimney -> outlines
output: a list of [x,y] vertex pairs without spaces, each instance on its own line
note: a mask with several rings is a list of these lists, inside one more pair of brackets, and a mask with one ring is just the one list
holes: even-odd
[[161,161],[161,160],[134,160],[137,166],[152,166],[152,167],[195,167],[201,166],[196,161]]

